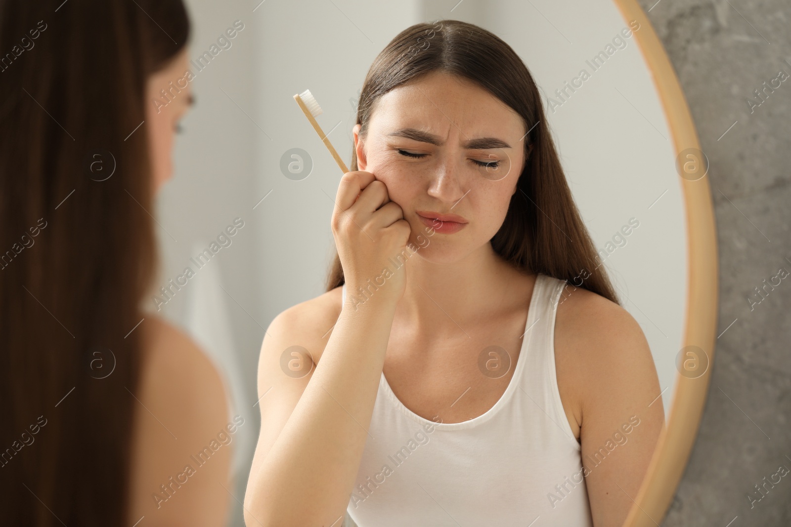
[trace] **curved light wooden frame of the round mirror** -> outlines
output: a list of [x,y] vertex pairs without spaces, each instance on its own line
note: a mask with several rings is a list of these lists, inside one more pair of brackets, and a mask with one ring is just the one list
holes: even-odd
[[[653,77],[672,135],[676,156],[686,149],[700,150],[698,134],[676,72],[664,51],[653,24],[637,0],[615,0],[625,21],[636,20],[638,48]],[[702,160],[708,168],[708,161]],[[676,164],[678,166],[678,164]],[[687,212],[687,317],[683,347],[694,345],[708,356],[703,375],[687,378],[676,374],[675,393],[667,426],[662,430],[637,496],[623,527],[659,525],[668,511],[687,467],[698,435],[709,389],[717,330],[717,230],[708,173],[691,181],[679,175]]]

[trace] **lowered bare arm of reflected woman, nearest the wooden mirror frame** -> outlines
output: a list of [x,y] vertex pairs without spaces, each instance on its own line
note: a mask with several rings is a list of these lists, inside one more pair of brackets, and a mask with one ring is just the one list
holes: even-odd
[[575,386],[593,525],[622,525],[664,427],[657,370],[628,311],[584,290],[570,299],[558,307],[558,320],[566,312],[555,353],[558,372]]

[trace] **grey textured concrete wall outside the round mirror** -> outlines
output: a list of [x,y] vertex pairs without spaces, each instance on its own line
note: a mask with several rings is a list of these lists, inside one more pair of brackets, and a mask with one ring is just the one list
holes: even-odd
[[[778,469],[791,469],[791,276],[773,277],[791,272],[791,78],[763,102],[755,90],[791,75],[791,2],[655,3],[640,0],[710,160],[720,258],[708,401],[662,525],[787,527],[791,473]],[[772,280],[762,299],[755,288]]]

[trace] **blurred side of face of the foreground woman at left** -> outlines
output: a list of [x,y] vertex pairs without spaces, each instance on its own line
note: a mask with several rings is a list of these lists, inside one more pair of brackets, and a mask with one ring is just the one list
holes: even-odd
[[[146,126],[154,194],[172,175],[173,137],[180,119],[192,104],[192,88],[184,78],[186,71],[187,50],[184,49],[163,70],[153,73],[146,85]],[[167,97],[161,90],[165,90]]]

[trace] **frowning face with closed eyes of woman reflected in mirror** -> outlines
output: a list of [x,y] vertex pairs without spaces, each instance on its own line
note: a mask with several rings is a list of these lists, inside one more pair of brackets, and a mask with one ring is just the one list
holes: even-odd
[[[524,167],[527,132],[501,100],[471,81],[431,73],[380,97],[365,137],[359,130],[358,169],[387,185],[422,258],[456,262],[498,232]],[[432,220],[433,213],[466,223]]]

